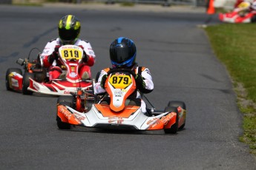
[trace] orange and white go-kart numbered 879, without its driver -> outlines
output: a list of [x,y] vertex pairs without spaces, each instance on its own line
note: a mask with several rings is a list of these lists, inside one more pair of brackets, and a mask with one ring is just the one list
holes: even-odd
[[134,72],[129,69],[112,69],[106,79],[105,95],[78,89],[71,93],[72,96],[59,96],[57,126],[59,129],[70,129],[71,125],[141,131],[164,129],[165,133],[171,134],[183,129],[186,123],[185,103],[169,101],[164,110],[152,107],[142,112],[141,99],[131,98],[137,92],[134,77]]

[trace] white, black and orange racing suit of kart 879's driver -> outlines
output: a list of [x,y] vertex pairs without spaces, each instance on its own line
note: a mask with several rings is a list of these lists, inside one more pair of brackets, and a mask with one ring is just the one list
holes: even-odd
[[[108,71],[109,70],[110,70],[110,68],[106,68],[106,69],[102,69],[102,71],[100,72],[99,78],[98,78],[98,80],[96,80],[96,83],[93,86],[95,95],[98,95],[98,94],[106,92],[105,89],[101,85],[101,83],[102,83],[101,81],[102,81],[102,78],[105,75],[108,75]],[[136,91],[136,94],[135,94],[136,95],[135,98],[140,98],[142,112],[146,113],[147,112],[146,104],[142,100],[140,92],[142,92],[142,93],[149,93],[149,92],[153,91],[154,83],[152,81],[151,73],[150,73],[148,68],[146,68],[146,67],[138,67],[137,64],[135,64],[135,66],[131,70],[133,70],[135,74],[140,74],[142,76],[142,81],[144,81],[143,84],[145,84],[145,86],[141,86],[141,84],[137,84],[136,85],[137,86],[137,91]]]

